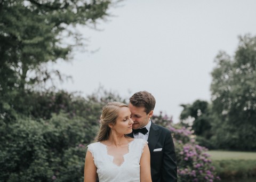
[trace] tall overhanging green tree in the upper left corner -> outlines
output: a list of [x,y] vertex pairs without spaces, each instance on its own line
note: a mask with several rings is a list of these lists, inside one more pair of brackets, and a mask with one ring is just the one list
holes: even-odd
[[[0,113],[22,110],[22,96],[58,70],[45,64],[69,60],[82,45],[77,24],[95,25],[109,14],[111,0],[0,0]],[[21,103],[21,104],[20,104]],[[19,107],[20,105],[20,107]]]

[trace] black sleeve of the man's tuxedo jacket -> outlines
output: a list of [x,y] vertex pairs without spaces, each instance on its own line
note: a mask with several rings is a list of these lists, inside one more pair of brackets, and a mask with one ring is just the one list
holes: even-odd
[[177,182],[177,161],[171,131],[167,131],[162,161],[163,182]]

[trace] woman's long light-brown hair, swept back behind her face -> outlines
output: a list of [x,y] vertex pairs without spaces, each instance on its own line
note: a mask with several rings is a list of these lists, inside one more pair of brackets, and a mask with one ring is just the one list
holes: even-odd
[[109,125],[115,125],[116,119],[118,118],[118,112],[121,107],[128,107],[126,104],[121,102],[110,102],[102,108],[100,117],[100,130],[95,138],[96,142],[107,140],[110,135]]

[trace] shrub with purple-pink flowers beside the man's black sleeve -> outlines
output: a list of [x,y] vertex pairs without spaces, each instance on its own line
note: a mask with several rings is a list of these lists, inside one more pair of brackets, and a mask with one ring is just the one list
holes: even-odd
[[153,120],[156,119],[158,125],[161,125],[161,120],[164,119],[164,127],[172,131],[178,164],[178,181],[212,182],[220,180],[216,176],[209,155],[205,153],[207,148],[196,144],[195,136],[190,130],[179,125],[173,125],[171,119],[167,118],[166,115],[162,117],[161,114],[159,116],[154,115]]

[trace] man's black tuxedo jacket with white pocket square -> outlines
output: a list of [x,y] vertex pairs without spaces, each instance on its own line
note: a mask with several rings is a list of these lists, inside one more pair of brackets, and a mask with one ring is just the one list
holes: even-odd
[[[128,136],[133,138],[133,133]],[[153,182],[176,182],[177,162],[171,131],[151,122],[148,147]],[[154,149],[162,148],[162,151]],[[161,150],[161,149],[158,149]]]

